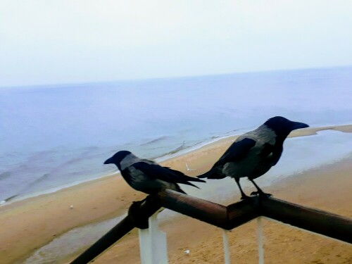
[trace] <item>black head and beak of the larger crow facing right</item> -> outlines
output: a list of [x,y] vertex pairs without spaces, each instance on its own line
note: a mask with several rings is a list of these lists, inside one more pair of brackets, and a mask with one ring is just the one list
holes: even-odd
[[283,118],[282,116],[275,116],[274,118],[270,118],[264,123],[264,125],[274,130],[277,134],[277,137],[281,137],[283,139],[285,139],[293,130],[309,127],[309,125],[303,122],[294,122],[288,120],[287,118]]

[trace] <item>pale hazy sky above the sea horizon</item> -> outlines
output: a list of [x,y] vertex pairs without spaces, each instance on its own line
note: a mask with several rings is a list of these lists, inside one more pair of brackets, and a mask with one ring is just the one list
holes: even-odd
[[0,87],[352,65],[351,0],[0,0]]

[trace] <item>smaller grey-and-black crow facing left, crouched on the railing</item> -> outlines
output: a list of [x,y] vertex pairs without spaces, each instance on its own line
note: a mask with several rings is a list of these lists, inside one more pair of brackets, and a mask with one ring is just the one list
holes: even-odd
[[[191,182],[205,182],[189,177],[182,172],[162,167],[153,161],[138,158],[130,151],[118,151],[108,158],[104,164],[115,164],[127,184],[137,191],[146,194],[156,194],[163,189],[172,189],[186,194],[177,183],[191,185]],[[199,187],[196,187],[199,188]]]

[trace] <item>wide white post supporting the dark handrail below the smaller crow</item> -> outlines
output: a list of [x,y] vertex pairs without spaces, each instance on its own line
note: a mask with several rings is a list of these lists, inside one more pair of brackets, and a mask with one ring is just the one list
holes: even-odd
[[166,234],[158,228],[158,213],[149,218],[149,228],[138,230],[142,264],[167,264],[168,246]]

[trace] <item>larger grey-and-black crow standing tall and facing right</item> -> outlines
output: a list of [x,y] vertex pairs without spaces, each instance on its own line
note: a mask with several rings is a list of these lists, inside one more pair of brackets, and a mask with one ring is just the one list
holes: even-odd
[[233,177],[241,191],[241,199],[246,199],[248,196],[244,194],[239,178],[248,177],[257,189],[252,194],[270,196],[271,194],[265,194],[253,179],[265,174],[276,165],[282,154],[284,140],[289,133],[305,127],[309,126],[281,116],[270,118],[256,130],[238,137],[213,168],[198,177],[208,179]]

